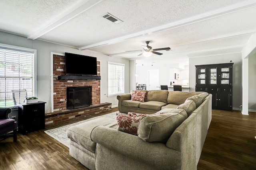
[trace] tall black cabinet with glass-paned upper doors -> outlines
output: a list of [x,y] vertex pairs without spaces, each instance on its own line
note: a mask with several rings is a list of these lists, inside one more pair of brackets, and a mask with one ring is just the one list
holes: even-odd
[[232,111],[234,63],[196,65],[196,92],[212,94],[212,108]]

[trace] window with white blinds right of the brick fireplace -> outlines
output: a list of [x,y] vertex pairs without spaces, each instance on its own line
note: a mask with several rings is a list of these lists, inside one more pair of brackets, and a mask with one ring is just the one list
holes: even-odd
[[108,62],[108,96],[124,93],[124,64]]

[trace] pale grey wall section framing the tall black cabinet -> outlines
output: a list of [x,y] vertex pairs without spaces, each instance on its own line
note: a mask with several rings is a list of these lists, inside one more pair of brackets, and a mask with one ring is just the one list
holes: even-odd
[[233,65],[233,109],[239,109],[242,104],[242,59],[241,53],[195,57],[189,59],[189,86],[190,91],[195,91],[196,67],[202,64],[234,63]]

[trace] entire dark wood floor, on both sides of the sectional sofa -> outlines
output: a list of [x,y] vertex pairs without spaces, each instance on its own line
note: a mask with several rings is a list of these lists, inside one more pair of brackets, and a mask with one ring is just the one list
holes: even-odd
[[[117,111],[113,108],[111,113]],[[100,114],[102,115],[102,114]],[[87,117],[88,119],[91,117]],[[70,123],[75,123],[72,121]],[[53,129],[69,123],[48,127]],[[212,111],[212,122],[198,163],[198,170],[256,170],[256,113]],[[87,170],[44,130],[18,133],[0,142],[0,170]]]

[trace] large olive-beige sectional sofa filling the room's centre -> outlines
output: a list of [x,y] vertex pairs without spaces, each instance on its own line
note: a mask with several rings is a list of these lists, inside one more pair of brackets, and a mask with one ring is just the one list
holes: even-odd
[[[118,102],[130,100],[134,92],[118,96]],[[143,97],[138,96],[133,101]],[[140,107],[146,102],[152,107]],[[90,170],[196,170],[211,121],[211,94],[153,90],[147,91],[139,107],[124,105],[118,104],[120,112],[130,108],[137,113],[129,112],[131,119],[126,119],[126,113],[118,113],[117,117],[139,120],[138,134],[120,130],[120,119],[101,117],[87,121],[67,130],[70,155]]]

